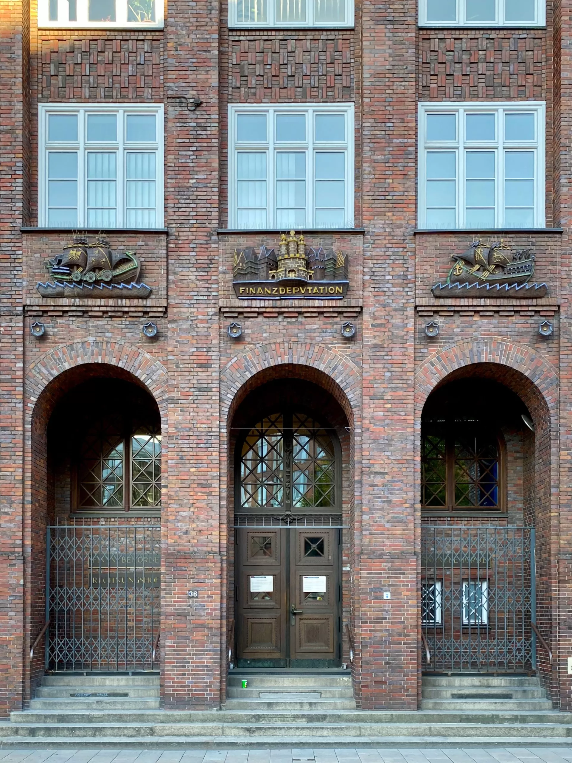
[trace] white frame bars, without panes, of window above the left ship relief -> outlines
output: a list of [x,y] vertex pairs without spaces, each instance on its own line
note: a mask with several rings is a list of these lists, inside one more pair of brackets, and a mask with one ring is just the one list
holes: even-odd
[[[117,114],[117,140],[114,143],[86,143],[88,114]],[[76,143],[48,141],[49,114],[77,114],[78,140]],[[155,143],[126,143],[124,130],[127,114],[154,114],[156,118]],[[156,153],[156,220],[149,228],[164,226],[165,191],[163,180],[164,168],[164,114],[162,104],[76,104],[76,103],[43,103],[39,105],[39,180],[38,180],[38,225],[50,227],[48,224],[48,153],[53,150],[77,151],[78,153],[78,228],[87,228],[87,153],[88,150],[110,150],[117,152],[117,221],[114,228],[129,228],[126,224],[126,155],[133,152]],[[59,227],[59,226],[58,226]],[[141,229],[146,230],[146,229]]]

